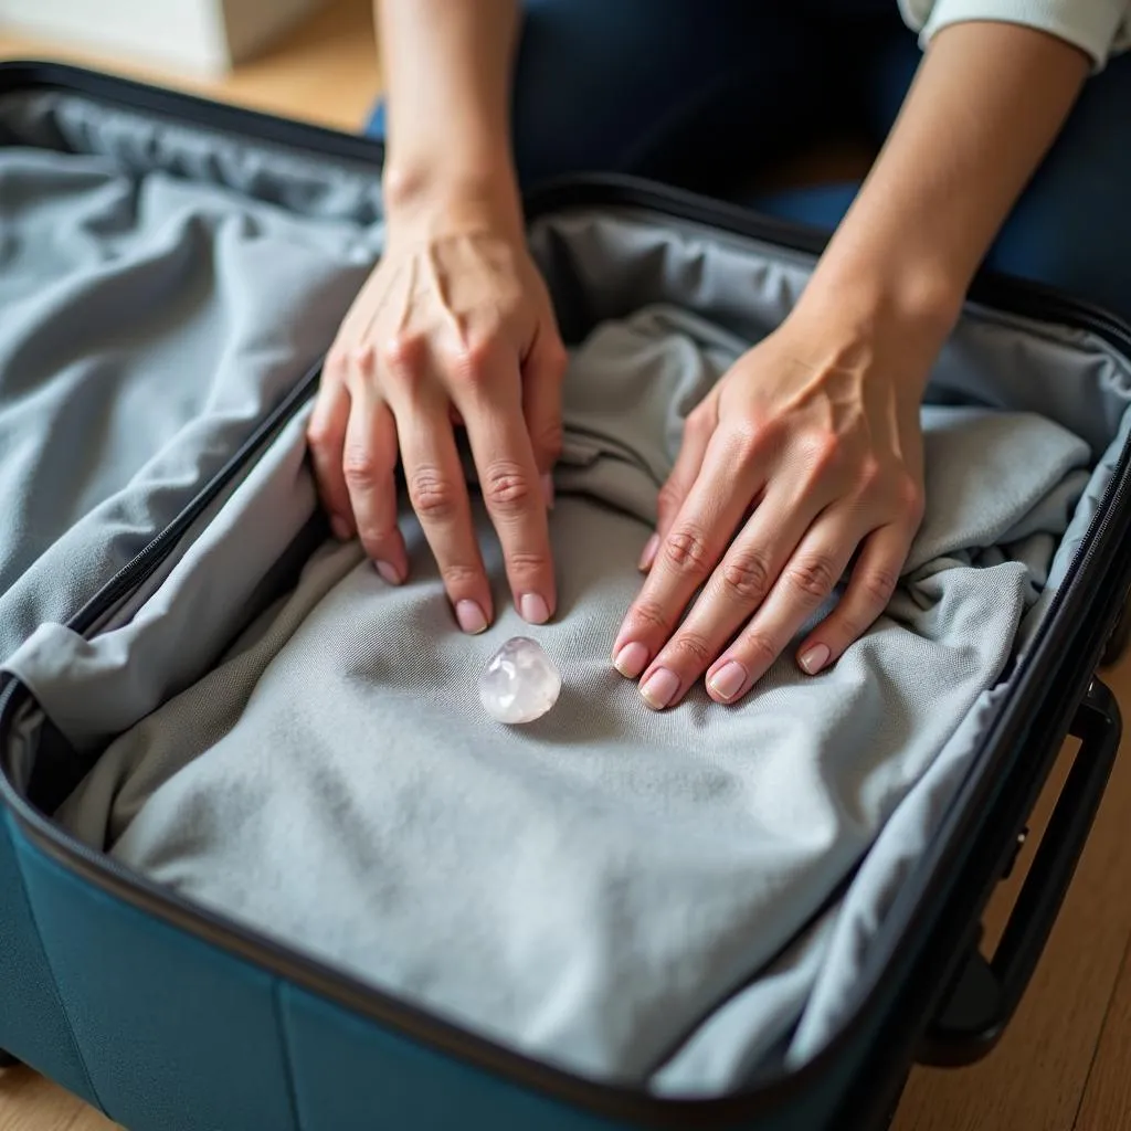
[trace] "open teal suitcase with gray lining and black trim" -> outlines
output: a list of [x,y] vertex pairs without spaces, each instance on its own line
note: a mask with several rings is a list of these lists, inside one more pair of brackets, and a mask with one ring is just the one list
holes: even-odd
[[[1018,614],[1024,645],[948,732],[947,751],[966,734],[961,757],[903,783],[865,851],[795,910],[791,938],[823,916],[851,969],[829,982],[820,966],[823,1027],[789,1015],[759,1046],[740,1026],[744,1053],[718,1046],[724,1082],[697,1082],[684,1061],[687,1087],[657,1087],[663,1056],[648,1071],[585,1072],[535,1055],[292,946],[274,923],[249,924],[241,907],[197,901],[59,818],[120,735],[184,718],[164,705],[325,543],[302,429],[319,360],[380,250],[382,153],[48,64],[0,69],[0,1048],[132,1131],[769,1131],[882,1126],[914,1061],[961,1064],[993,1046],[1120,740],[1095,671],[1131,580],[1131,327],[1065,295],[977,280],[927,400],[1052,420],[1082,459],[1071,489],[1056,487],[1059,542],[1011,527],[1048,550]],[[528,219],[571,347],[602,320],[657,307],[752,340],[819,248],[812,233],[616,178],[546,185]],[[578,474],[592,434],[578,432]],[[1018,572],[1010,553],[982,566]],[[987,960],[982,909],[1067,734],[1079,751]],[[374,741],[383,750],[388,734]],[[733,994],[757,991],[787,949],[756,959],[760,933]],[[806,984],[804,1010],[813,996]],[[663,1029],[663,1011],[646,1022]],[[806,1026],[820,1036],[800,1055]],[[687,1036],[689,1019],[675,1030]]]

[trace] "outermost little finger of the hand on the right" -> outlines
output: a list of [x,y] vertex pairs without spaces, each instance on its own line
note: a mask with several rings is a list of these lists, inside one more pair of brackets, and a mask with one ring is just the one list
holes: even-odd
[[888,606],[899,572],[910,551],[915,528],[908,524],[881,527],[864,543],[852,578],[836,608],[813,629],[797,649],[797,664],[815,675],[839,659]]

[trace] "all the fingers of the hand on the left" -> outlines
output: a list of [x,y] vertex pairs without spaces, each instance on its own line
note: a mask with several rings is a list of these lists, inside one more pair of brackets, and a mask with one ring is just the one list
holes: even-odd
[[[408,558],[397,526],[399,442],[409,501],[456,619],[464,631],[482,632],[492,620],[492,601],[452,434],[452,422],[461,420],[502,543],[515,603],[528,621],[550,620],[556,590],[546,499],[524,416],[517,362],[511,362],[510,377],[486,372],[484,364],[484,372],[473,374],[477,379],[465,387],[490,392],[465,396],[464,404],[452,405],[442,382],[431,379],[429,370],[438,362],[430,351],[412,343],[390,344],[380,359],[390,408],[377,381],[373,348],[361,346],[346,354],[345,361],[345,379],[328,385],[312,429],[318,440],[317,466],[325,469],[321,477],[336,527],[343,528],[340,515],[351,516],[381,576],[390,584],[407,577]],[[501,354],[490,361],[494,369],[507,364]],[[529,402],[534,418],[541,422],[541,458],[550,465],[560,446],[560,368],[553,351],[544,349],[534,370],[543,391]]]

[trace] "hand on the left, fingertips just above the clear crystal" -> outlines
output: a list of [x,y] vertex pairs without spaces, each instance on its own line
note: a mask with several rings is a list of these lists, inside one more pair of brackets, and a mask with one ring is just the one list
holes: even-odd
[[456,448],[463,425],[515,603],[527,621],[547,621],[564,369],[519,222],[467,204],[390,215],[385,254],[327,356],[308,430],[334,533],[360,537],[389,584],[407,578],[399,454],[456,619],[482,632],[494,611]]

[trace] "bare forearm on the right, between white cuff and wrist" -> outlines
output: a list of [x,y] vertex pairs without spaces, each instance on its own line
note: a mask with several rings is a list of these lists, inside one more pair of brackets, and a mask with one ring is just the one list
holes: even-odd
[[891,318],[941,345],[974,273],[1060,131],[1085,54],[1027,27],[939,33],[811,283],[861,321]]

